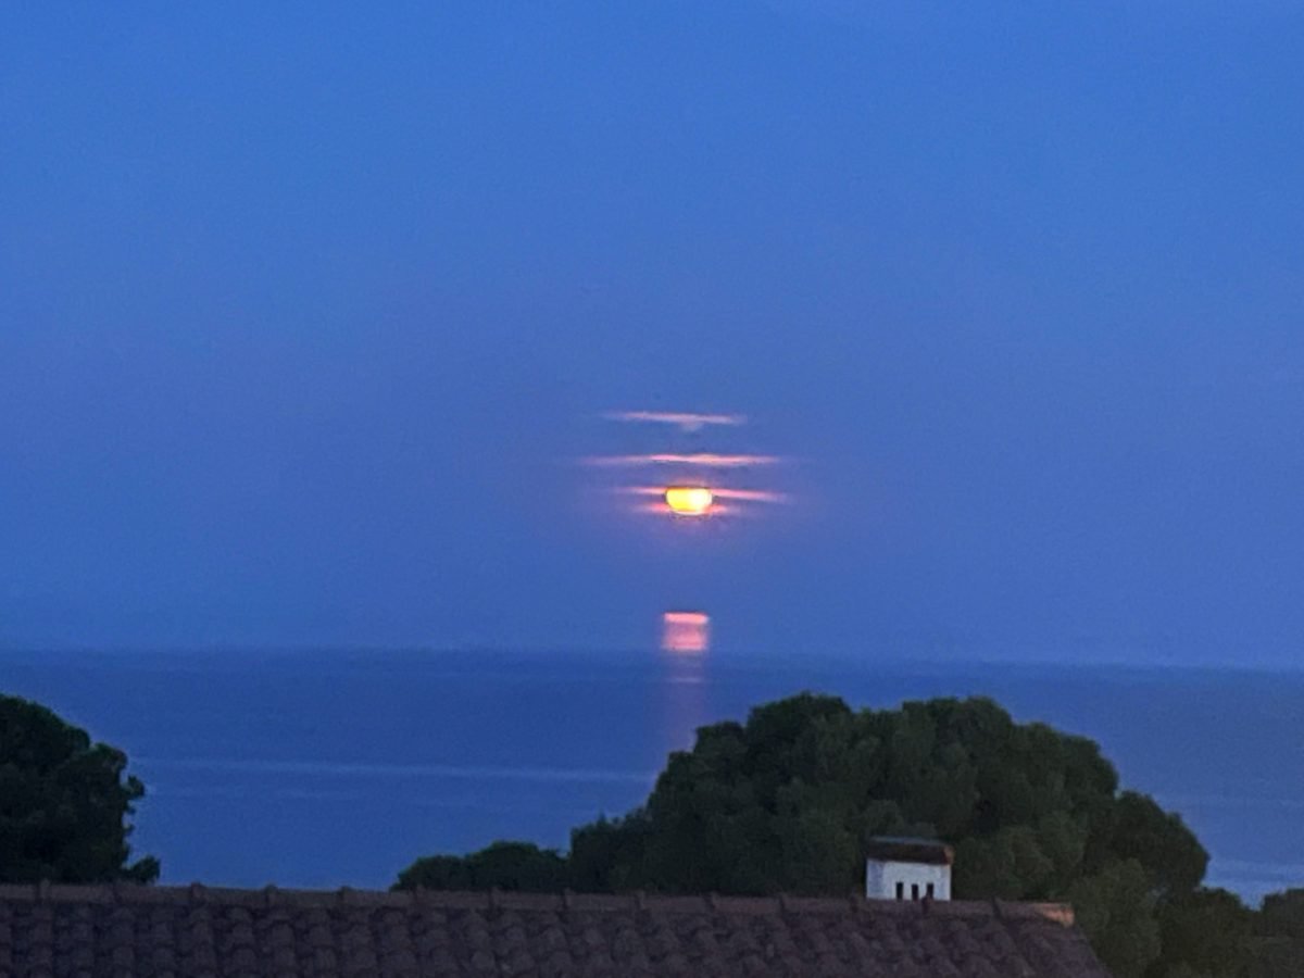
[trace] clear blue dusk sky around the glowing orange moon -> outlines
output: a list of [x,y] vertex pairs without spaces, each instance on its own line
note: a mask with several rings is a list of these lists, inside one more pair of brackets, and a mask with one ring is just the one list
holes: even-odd
[[[691,608],[758,655],[1296,666],[1301,50],[1266,1],[7,4],[0,645]],[[793,502],[657,519],[578,464],[672,443]]]

